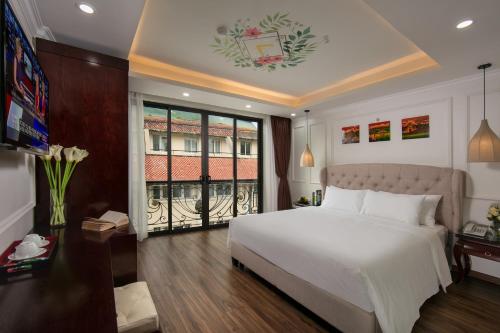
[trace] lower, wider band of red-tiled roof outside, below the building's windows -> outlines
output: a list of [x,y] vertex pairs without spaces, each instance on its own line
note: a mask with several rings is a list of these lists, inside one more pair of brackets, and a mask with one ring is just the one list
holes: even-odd
[[[166,155],[146,155],[146,181],[167,181]],[[227,157],[210,157],[209,174],[212,180],[233,179],[233,159]],[[198,180],[201,175],[201,157],[172,156],[172,180]],[[238,159],[238,179],[257,179],[257,159]]]

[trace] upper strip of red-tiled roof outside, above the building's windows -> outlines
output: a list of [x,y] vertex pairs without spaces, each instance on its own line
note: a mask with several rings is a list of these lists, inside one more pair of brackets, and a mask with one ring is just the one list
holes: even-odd
[[[152,131],[167,131],[167,122],[163,117],[144,117],[144,128]],[[200,134],[201,125],[199,121],[172,119],[173,133]],[[210,124],[208,128],[210,136],[232,136],[233,127],[225,124]],[[248,128],[238,129],[238,137],[242,139],[257,139],[257,131]]]

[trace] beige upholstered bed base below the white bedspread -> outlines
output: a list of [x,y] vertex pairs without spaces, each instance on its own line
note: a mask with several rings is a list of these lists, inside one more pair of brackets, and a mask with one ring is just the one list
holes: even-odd
[[253,271],[342,332],[382,332],[374,312],[367,312],[287,273],[235,241],[231,241],[230,246],[235,267]]

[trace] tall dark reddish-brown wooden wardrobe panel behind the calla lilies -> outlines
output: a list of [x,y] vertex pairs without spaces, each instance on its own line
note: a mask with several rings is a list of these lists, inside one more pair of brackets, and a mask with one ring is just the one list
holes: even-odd
[[[50,83],[50,143],[87,149],[66,194],[69,222],[128,211],[128,61],[37,40]],[[49,219],[49,190],[37,168],[35,221]]]

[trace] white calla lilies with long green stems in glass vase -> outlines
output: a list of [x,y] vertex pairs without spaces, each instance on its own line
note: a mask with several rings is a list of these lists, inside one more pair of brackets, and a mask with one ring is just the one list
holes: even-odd
[[[61,152],[64,153],[66,164],[64,166],[64,173],[61,174]],[[60,145],[51,145],[47,155],[40,156],[47,174],[49,181],[50,196],[52,198],[52,214],[50,217],[51,226],[63,226],[66,224],[64,216],[64,196],[66,194],[66,187],[75,171],[78,163],[83,161],[89,152],[85,149],[77,147],[64,148]],[[52,163],[54,159],[55,163]]]

